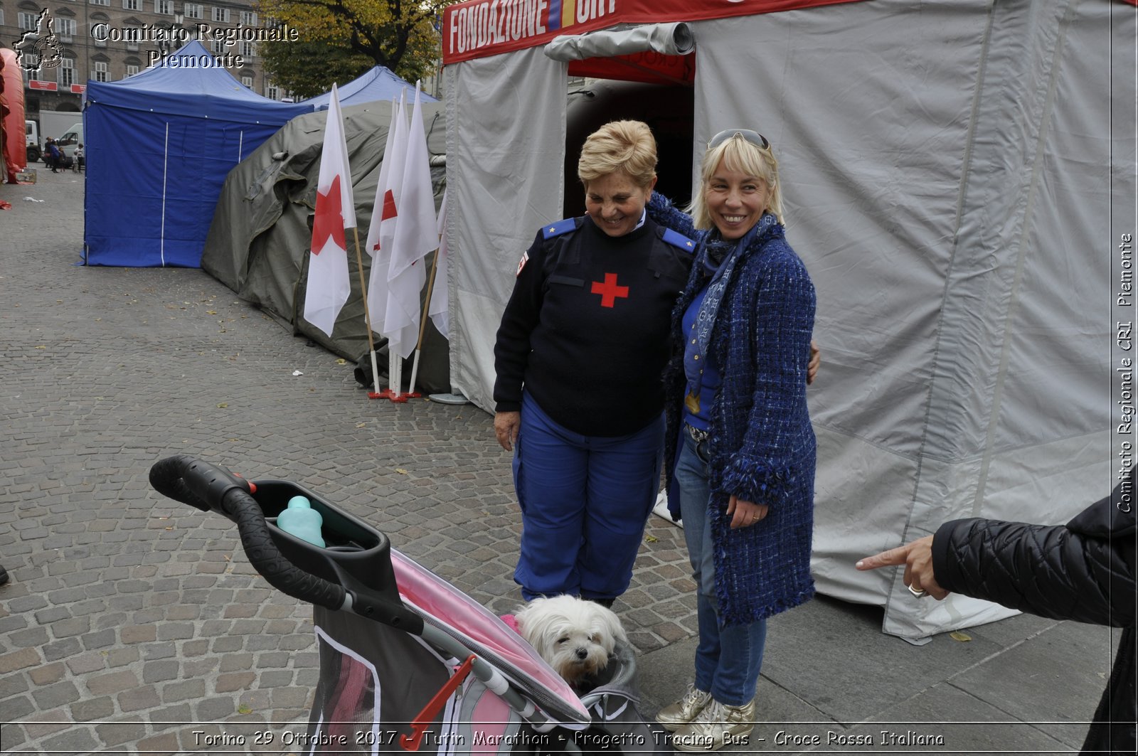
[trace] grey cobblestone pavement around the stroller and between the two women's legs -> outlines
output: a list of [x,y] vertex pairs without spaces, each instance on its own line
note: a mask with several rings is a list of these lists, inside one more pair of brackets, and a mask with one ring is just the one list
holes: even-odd
[[[256,575],[229,520],[151,491],[171,454],[296,482],[492,609],[520,602],[489,416],[369,401],[351,364],[203,271],[76,266],[79,179],[0,194],[5,749],[192,751],[191,730],[223,726],[200,723],[306,720],[311,606]],[[642,651],[694,627],[677,539],[650,527],[622,599]]]

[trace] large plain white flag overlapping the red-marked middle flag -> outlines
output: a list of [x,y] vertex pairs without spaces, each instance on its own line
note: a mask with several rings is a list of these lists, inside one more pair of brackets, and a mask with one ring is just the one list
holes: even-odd
[[422,104],[415,85],[415,108],[406,143],[406,163],[399,194],[391,262],[387,273],[387,315],[384,335],[389,348],[406,359],[415,351],[422,311],[420,293],[427,281],[423,257],[438,247],[438,219],[430,181],[430,157],[423,129]]

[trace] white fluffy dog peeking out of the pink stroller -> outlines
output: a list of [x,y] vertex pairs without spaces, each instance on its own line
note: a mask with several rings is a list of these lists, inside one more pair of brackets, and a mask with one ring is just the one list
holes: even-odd
[[604,669],[617,642],[628,641],[612,609],[575,595],[534,599],[514,618],[521,636],[570,685]]

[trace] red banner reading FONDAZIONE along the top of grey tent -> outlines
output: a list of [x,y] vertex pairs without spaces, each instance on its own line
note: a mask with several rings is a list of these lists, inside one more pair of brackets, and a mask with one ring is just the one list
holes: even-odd
[[443,63],[544,44],[616,24],[751,16],[857,0],[468,0],[443,10]]

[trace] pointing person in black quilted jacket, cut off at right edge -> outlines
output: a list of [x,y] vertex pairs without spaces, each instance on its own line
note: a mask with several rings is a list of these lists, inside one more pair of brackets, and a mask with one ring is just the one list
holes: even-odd
[[1082,745],[1083,754],[1136,749],[1135,472],[1110,496],[1066,525],[967,518],[934,535],[857,562],[858,569],[905,565],[914,597],[962,593],[1012,609],[1123,627],[1111,679]]

